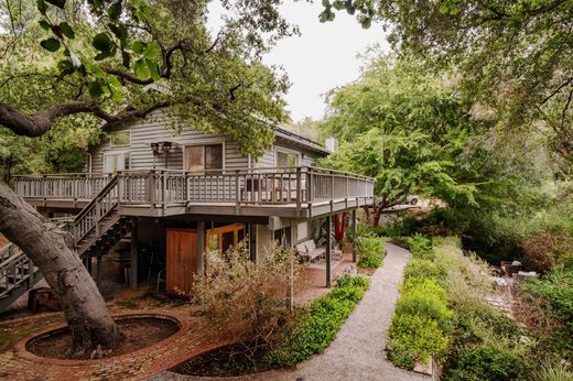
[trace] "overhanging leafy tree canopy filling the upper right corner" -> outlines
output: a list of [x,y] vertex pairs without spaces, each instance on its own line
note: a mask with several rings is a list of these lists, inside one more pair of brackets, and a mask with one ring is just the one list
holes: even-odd
[[390,42],[429,68],[457,73],[473,101],[496,112],[501,135],[545,138],[563,167],[573,163],[573,2],[566,0],[324,1],[364,26],[380,21]]

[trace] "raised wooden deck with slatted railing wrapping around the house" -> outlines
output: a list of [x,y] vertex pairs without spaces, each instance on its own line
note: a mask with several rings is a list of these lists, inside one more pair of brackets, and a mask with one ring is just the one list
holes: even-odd
[[[116,185],[108,186],[113,182]],[[106,186],[109,189],[106,189]],[[17,176],[15,192],[36,207],[83,209],[100,193],[126,216],[185,214],[312,218],[372,203],[374,179],[317,168],[249,168],[195,174],[149,170]]]

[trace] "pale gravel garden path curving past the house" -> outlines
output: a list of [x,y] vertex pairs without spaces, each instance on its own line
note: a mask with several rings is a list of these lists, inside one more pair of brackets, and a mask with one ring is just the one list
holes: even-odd
[[[370,289],[343,325],[336,339],[321,355],[301,363],[292,371],[271,371],[242,380],[431,380],[430,377],[393,367],[387,359],[388,328],[399,297],[398,286],[410,253],[386,243],[388,254],[383,265],[371,276]],[[154,380],[201,380],[163,372]],[[214,380],[213,378],[210,380]]]

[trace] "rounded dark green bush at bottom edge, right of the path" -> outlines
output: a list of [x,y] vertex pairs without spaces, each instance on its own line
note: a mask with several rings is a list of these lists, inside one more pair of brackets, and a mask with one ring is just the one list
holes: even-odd
[[466,352],[457,367],[448,373],[448,380],[523,380],[522,361],[510,351],[495,347],[477,347]]

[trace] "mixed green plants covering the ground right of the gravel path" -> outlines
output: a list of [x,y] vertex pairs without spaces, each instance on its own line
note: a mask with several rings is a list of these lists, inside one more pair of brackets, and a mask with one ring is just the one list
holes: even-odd
[[496,292],[489,270],[464,255],[460,239],[434,238],[432,246],[433,260],[413,258],[406,268],[389,331],[392,363],[412,369],[432,356],[445,380],[571,379],[571,272],[561,268],[519,286],[561,322],[561,330],[542,336],[486,302]]

